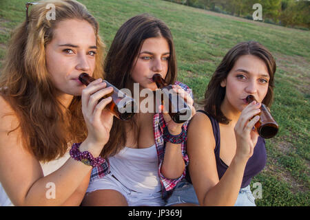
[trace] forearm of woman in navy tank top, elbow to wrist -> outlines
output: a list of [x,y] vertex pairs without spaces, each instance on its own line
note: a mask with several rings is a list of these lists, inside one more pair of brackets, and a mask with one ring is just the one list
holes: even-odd
[[218,184],[207,191],[203,206],[234,206],[245,172],[245,159],[234,157]]

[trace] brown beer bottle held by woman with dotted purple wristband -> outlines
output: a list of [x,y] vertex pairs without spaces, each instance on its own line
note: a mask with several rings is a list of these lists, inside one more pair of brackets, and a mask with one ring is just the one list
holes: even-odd
[[[89,76],[86,73],[80,74],[79,80],[84,85],[90,84],[95,79]],[[106,80],[103,80],[103,82],[107,83],[107,87],[113,87],[113,91],[110,94],[107,94],[106,96],[103,96],[103,98],[112,97],[112,101],[107,104],[105,108],[109,109],[118,119],[121,120],[129,120],[134,115],[134,109],[136,102],[134,102],[134,99],[124,94],[122,91],[118,90],[114,85],[110,84]],[[103,100],[101,98],[98,102]]]

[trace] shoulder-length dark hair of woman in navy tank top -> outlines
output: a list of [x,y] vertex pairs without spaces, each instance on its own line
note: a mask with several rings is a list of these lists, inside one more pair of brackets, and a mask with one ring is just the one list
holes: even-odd
[[223,60],[220,62],[220,65],[216,68],[216,71],[207,86],[207,91],[205,91],[205,99],[201,102],[201,104],[204,105],[205,111],[216,118],[216,120],[220,123],[229,123],[229,119],[226,118],[220,110],[220,104],[222,104],[226,92],[226,88],[221,87],[220,83],[227,78],[227,75],[234,67],[238,58],[242,55],[248,54],[257,56],[266,64],[270,79],[268,91],[264,100],[262,100],[262,103],[266,104],[267,107],[270,107],[273,102],[273,79],[274,74],[276,73],[276,61],[274,60],[272,54],[266,47],[256,41],[238,43],[236,46],[231,48],[229,52],[227,52]]

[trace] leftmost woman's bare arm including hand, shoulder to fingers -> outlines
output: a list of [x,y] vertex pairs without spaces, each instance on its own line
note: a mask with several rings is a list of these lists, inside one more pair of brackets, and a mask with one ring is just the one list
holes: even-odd
[[[103,89],[105,85],[100,84],[99,80],[91,84],[83,89],[82,94],[82,111],[88,136],[80,150],[90,151],[94,157],[98,157],[109,138],[113,115],[104,109],[110,99],[105,98],[98,103],[110,90]],[[66,201],[71,203],[68,199],[74,197],[77,199],[74,203],[80,203],[83,199],[80,194],[87,188],[85,181],[89,178],[86,176],[92,167],[70,157],[61,168],[44,177],[39,161],[21,142],[21,130],[8,134],[18,124],[14,111],[0,96],[0,181],[12,203],[17,206],[61,206]],[[46,197],[50,183],[55,186],[55,199]]]

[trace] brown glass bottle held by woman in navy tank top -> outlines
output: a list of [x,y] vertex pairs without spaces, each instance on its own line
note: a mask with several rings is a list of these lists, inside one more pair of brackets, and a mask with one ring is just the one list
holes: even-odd
[[[247,96],[247,104],[256,101],[254,96]],[[257,102],[257,101],[256,101]],[[277,122],[272,118],[271,113],[265,104],[260,105],[260,120],[256,122],[255,127],[260,137],[265,139],[274,137],[278,133],[279,126]]]

